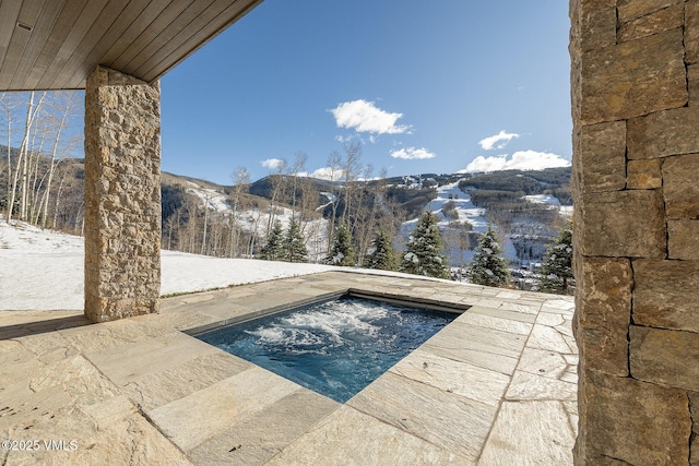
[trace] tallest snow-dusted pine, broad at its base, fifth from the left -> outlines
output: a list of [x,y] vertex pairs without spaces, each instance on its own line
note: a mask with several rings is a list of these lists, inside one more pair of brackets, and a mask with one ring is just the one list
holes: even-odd
[[449,278],[447,258],[442,253],[441,231],[437,226],[437,217],[431,212],[420,215],[415,230],[411,232],[400,271]]

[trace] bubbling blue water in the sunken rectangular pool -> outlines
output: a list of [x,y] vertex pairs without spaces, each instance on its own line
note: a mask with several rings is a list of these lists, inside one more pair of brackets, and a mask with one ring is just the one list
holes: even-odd
[[342,297],[197,337],[344,403],[457,315]]

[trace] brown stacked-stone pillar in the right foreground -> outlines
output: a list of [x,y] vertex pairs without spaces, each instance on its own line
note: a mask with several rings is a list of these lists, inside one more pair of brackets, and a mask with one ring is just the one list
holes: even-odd
[[699,465],[699,1],[571,0],[578,465]]

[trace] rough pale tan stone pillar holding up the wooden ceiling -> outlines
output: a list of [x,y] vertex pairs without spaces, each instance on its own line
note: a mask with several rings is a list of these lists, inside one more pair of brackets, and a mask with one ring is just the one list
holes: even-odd
[[97,67],[85,88],[85,315],[157,312],[161,92]]

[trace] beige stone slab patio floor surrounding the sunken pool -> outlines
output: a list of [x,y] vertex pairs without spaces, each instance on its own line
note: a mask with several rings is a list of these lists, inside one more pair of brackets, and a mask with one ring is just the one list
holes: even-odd
[[[471,308],[345,404],[182,332],[347,289]],[[567,297],[351,272],[94,325],[0,312],[0,440],[16,441],[0,464],[572,464],[572,312]]]

